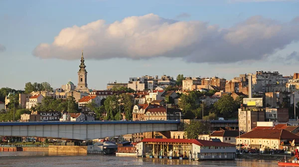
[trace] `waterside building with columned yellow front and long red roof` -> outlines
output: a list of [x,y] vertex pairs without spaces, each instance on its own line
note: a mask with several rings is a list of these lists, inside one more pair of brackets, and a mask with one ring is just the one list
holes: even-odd
[[219,139],[152,139],[146,138],[136,144],[137,156],[167,159],[215,160],[235,159],[236,145]]

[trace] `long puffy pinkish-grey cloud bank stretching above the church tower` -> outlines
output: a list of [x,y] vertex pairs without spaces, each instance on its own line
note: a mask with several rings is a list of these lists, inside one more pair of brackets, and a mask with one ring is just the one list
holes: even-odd
[[41,43],[40,58],[181,57],[187,62],[229,63],[259,60],[299,40],[299,17],[287,23],[253,16],[230,28],[202,21],[175,21],[155,14],[106,24],[97,20],[64,28],[52,44]]

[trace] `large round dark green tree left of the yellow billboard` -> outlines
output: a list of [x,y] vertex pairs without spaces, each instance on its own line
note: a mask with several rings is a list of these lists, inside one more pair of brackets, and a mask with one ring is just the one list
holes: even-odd
[[223,115],[223,117],[233,116],[237,108],[233,97],[230,95],[222,96],[222,98],[214,104],[214,109]]

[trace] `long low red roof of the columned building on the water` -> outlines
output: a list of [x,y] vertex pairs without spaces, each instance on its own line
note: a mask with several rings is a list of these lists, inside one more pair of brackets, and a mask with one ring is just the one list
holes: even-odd
[[198,146],[235,146],[230,143],[224,142],[214,142],[209,140],[197,140],[197,139],[155,139],[155,138],[146,138],[141,142],[167,142],[167,143],[193,143]]

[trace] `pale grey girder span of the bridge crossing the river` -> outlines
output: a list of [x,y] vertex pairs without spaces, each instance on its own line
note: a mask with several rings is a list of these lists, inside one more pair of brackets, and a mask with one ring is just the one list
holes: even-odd
[[124,134],[175,131],[179,120],[0,122],[0,136],[92,140]]

